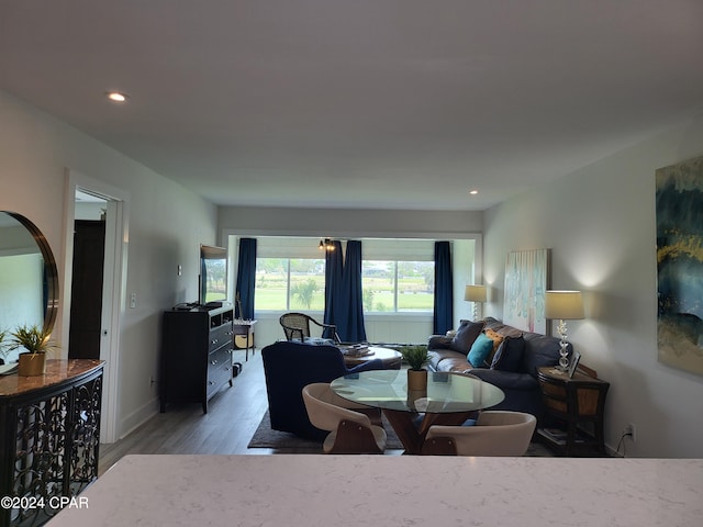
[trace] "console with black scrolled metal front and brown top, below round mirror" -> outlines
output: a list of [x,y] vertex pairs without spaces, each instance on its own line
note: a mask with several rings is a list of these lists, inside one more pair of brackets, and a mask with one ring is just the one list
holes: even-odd
[[98,478],[103,362],[0,377],[0,526],[43,525]]

